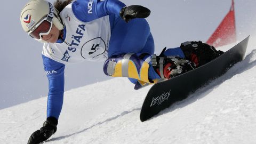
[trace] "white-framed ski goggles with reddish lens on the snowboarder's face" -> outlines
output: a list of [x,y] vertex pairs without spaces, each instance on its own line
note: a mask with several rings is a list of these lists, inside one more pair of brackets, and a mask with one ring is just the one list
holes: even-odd
[[28,35],[36,40],[42,41],[42,35],[48,35],[52,29],[53,18],[48,14],[47,17],[39,21],[36,26],[28,31]]

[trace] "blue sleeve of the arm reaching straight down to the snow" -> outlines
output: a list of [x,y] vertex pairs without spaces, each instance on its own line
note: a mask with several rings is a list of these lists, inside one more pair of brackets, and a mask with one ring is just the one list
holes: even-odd
[[49,93],[47,99],[47,117],[59,119],[63,105],[64,94],[64,69],[63,63],[43,57],[43,65],[49,80]]

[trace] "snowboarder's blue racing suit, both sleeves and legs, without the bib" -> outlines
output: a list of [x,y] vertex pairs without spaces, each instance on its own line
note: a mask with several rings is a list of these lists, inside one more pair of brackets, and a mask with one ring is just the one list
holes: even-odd
[[[82,22],[90,22],[106,15],[109,16],[111,37],[108,58],[125,53],[136,53],[138,55],[141,53],[154,53],[154,39],[147,21],[145,19],[133,19],[126,23],[122,20],[119,17],[119,12],[125,6],[122,2],[118,0],[77,0],[71,5],[75,17]],[[93,11],[93,13],[89,15],[89,11]],[[65,35],[66,27],[63,29],[63,39],[65,39]],[[57,43],[63,43],[62,39],[59,39]],[[172,52],[169,51],[168,55],[184,57],[179,47]],[[65,64],[52,60],[45,55],[42,55],[42,57],[46,76],[49,79],[47,117],[58,119],[63,104]],[[149,68],[149,73],[151,73],[149,77],[152,79],[159,77],[151,67]],[[131,81],[135,82],[134,79]]]

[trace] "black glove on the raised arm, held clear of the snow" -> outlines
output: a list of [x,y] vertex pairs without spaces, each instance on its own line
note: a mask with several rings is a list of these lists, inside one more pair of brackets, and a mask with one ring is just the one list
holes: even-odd
[[150,10],[147,7],[141,5],[130,5],[125,6],[120,11],[120,16],[126,22],[129,22],[134,18],[147,18],[150,14]]

